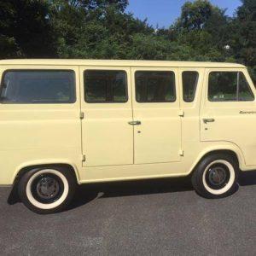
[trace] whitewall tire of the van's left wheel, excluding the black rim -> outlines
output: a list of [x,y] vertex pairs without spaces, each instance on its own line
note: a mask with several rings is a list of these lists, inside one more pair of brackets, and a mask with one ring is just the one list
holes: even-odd
[[[49,208],[49,209],[45,209],[44,207],[38,207],[38,205],[36,206],[35,204],[33,204],[29,198],[32,198],[32,200],[35,200],[35,201],[37,201],[37,200],[34,197],[32,197],[31,195],[28,196],[26,193],[26,187],[27,187],[27,184],[30,182],[31,178],[36,177],[37,173],[39,173],[39,172],[45,172],[44,170],[53,170],[56,173],[58,172],[59,175],[61,175],[61,177],[66,178],[65,184],[68,184],[68,186],[66,186],[66,188],[65,188],[66,189],[65,196],[62,197],[63,201],[61,199],[61,204],[57,205],[56,207]],[[70,202],[73,199],[73,195],[75,194],[75,190],[76,190],[77,186],[78,186],[78,183],[77,183],[76,177],[71,170],[65,169],[63,167],[58,167],[58,166],[35,168],[35,169],[32,169],[32,170],[26,172],[20,178],[20,181],[18,183],[18,194],[20,196],[20,200],[32,212],[36,212],[39,214],[50,214],[50,213],[55,213],[55,212],[61,212],[70,204]],[[31,189],[30,189],[30,191],[31,191]],[[63,194],[64,193],[62,193],[62,195]],[[66,194],[67,194],[67,196],[66,196]],[[38,202],[38,203],[41,204],[42,202]]]

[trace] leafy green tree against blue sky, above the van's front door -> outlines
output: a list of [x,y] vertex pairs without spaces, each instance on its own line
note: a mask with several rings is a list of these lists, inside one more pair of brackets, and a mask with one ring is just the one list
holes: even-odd
[[170,27],[177,49],[171,55],[184,61],[233,60],[231,51],[225,51],[229,42],[230,20],[224,9],[207,0],[184,3],[181,17]]

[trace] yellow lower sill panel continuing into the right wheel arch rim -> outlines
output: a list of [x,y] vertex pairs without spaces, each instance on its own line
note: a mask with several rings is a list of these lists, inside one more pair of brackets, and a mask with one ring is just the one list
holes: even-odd
[[244,166],[241,150],[232,143],[210,142],[194,144],[191,148],[184,148],[184,156],[180,162],[157,163],[126,166],[98,166],[86,167],[81,173],[81,183],[101,183],[107,181],[136,180],[158,177],[183,177],[194,171],[198,162],[206,155],[216,150],[230,150],[234,152],[242,170],[253,170],[256,166]]

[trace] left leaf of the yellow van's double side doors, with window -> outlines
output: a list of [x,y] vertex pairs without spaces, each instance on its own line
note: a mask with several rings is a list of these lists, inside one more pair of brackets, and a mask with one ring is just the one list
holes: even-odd
[[133,164],[130,79],[127,67],[80,67],[84,166]]

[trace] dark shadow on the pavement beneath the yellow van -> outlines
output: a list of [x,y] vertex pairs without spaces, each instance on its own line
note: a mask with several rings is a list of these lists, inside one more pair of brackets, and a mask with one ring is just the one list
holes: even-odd
[[[241,172],[238,183],[240,186],[256,185],[256,171]],[[238,187],[237,187],[238,189]],[[83,206],[96,198],[108,198],[130,195],[149,195],[193,190],[190,177],[172,177],[113,183],[95,183],[80,185],[72,204],[68,209]],[[17,191],[12,191],[9,204],[20,202]]]

